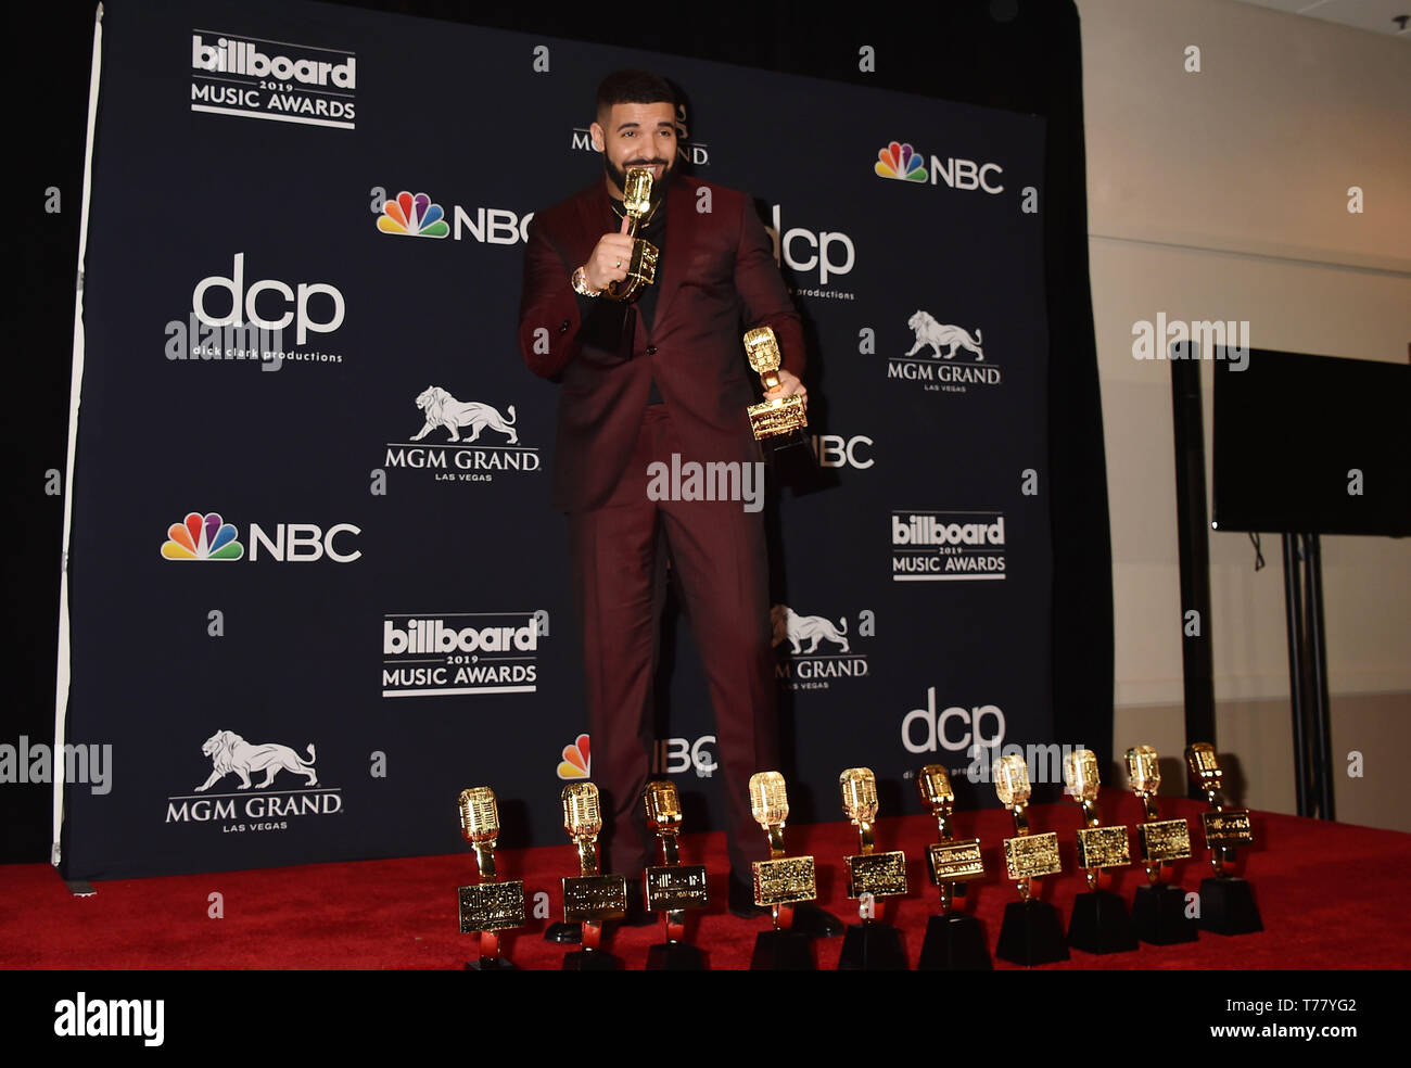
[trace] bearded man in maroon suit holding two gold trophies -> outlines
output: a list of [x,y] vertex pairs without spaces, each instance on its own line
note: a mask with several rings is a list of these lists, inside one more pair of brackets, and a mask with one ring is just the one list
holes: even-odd
[[[673,454],[683,468],[755,464],[745,409],[758,398],[742,333],[768,324],[779,340],[780,381],[765,396],[806,398],[803,330],[751,199],[676,174],[669,83],[639,71],[610,75],[591,137],[604,181],[531,226],[519,348],[535,374],[563,387],[553,504],[569,514],[608,870],[631,875],[653,862],[641,797],[669,559],[715,712],[731,907],[752,914],[749,861],[765,856],[765,838],[751,820],[749,776],[779,763],[759,501],[653,499],[648,467],[670,467]],[[638,236],[660,260],[655,284],[618,302],[602,291],[626,278],[632,258],[622,207],[629,166],[652,169]]]

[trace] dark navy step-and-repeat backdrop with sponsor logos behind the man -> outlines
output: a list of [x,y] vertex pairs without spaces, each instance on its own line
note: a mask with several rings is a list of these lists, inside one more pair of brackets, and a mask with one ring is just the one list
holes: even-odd
[[[1053,779],[1040,119],[350,8],[111,4],[69,546],[71,878],[566,844],[590,777],[557,392],[516,346],[536,210],[601,181],[608,71],[682,86],[682,166],[758,202],[828,485],[773,491],[793,820],[952,770]],[[663,253],[670,255],[670,250]],[[744,360],[741,351],[741,360]],[[689,621],[655,763],[720,827]],[[989,746],[976,751],[975,746]]]

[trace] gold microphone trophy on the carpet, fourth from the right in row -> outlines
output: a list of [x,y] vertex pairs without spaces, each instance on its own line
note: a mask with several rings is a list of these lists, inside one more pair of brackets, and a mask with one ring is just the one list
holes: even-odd
[[1026,968],[1068,959],[1062,937],[1062,917],[1048,902],[1034,893],[1038,879],[1058,875],[1058,835],[1029,832],[1029,766],[1023,756],[1002,756],[995,762],[995,793],[999,803],[1015,814],[1015,837],[1005,839],[1005,868],[1019,889],[1019,900],[1005,906],[995,957]]

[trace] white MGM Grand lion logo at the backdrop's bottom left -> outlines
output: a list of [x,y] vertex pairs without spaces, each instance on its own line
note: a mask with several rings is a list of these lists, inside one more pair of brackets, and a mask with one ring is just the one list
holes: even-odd
[[[255,745],[234,731],[216,731],[200,752],[210,775],[192,793],[166,799],[164,823],[213,824],[223,834],[286,831],[301,820],[343,811],[343,791],[319,782],[313,742],[301,756],[288,745]],[[236,793],[210,793],[217,784]]]

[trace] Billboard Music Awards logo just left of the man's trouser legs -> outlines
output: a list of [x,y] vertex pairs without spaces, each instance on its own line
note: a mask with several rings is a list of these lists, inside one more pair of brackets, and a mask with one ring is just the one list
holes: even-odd
[[547,612],[382,617],[382,697],[532,694]]

